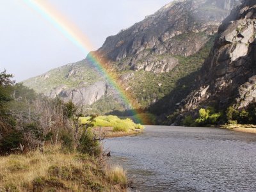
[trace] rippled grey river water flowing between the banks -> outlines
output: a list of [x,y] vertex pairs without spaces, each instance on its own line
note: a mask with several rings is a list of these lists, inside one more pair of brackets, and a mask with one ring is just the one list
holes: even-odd
[[148,125],[104,148],[136,191],[256,191],[256,134]]

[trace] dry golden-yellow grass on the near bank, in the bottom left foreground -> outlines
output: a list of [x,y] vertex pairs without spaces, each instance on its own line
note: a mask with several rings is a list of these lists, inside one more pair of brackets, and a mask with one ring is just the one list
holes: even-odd
[[58,147],[45,154],[0,157],[0,191],[125,191],[127,179],[120,167]]

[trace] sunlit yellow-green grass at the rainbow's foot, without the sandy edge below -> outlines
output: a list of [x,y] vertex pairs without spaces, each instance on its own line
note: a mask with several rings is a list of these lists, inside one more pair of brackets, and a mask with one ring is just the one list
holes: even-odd
[[[80,118],[81,123],[84,124],[89,120],[90,117]],[[113,132],[134,132],[136,129],[144,129],[143,125],[135,124],[130,118],[120,119],[118,116],[97,116],[94,127],[113,127]]]

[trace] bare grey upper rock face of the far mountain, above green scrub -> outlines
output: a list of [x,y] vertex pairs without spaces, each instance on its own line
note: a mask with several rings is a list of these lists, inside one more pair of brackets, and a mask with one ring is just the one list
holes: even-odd
[[[198,52],[238,4],[236,0],[174,1],[131,28],[109,36],[97,54],[132,70],[168,72],[175,65],[172,55]],[[151,59],[162,54],[168,54],[170,63]]]

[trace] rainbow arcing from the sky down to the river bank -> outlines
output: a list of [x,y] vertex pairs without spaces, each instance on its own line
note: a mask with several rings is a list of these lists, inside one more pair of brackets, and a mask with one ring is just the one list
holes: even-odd
[[107,79],[108,83],[115,88],[119,93],[120,99],[124,102],[125,106],[129,106],[132,111],[132,115],[135,116],[137,122],[146,123],[148,118],[146,116],[139,115],[139,106],[136,100],[132,98],[132,95],[125,92],[124,88],[118,83],[118,77],[115,72],[112,72],[106,66],[106,61],[93,54],[93,45],[90,40],[84,35],[73,22],[65,18],[58,10],[56,10],[46,0],[23,0],[30,8],[40,13],[42,17],[47,19],[51,24],[58,29],[68,40],[77,45],[84,54],[87,54],[87,59],[91,61],[92,65]]

